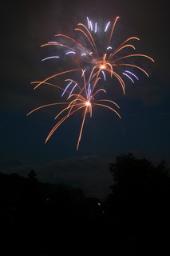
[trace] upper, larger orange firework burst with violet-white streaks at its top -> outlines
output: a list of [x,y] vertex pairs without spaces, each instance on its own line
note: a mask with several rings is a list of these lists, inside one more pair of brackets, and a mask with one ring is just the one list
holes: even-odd
[[[109,74],[110,78],[113,76],[117,78],[118,82],[121,85],[121,88],[123,90],[123,94],[125,94],[125,76],[128,77],[132,82],[136,75],[132,74],[130,70],[126,70],[125,72],[121,72],[121,67],[128,67],[128,68],[135,68],[137,70],[140,70],[145,75],[148,76],[148,73],[146,70],[144,70],[142,67],[132,64],[128,62],[130,58],[136,58],[136,57],[142,57],[142,58],[148,58],[152,62],[154,60],[149,57],[146,54],[124,54],[123,50],[125,48],[131,48],[132,50],[136,50],[135,46],[132,45],[132,41],[140,39],[137,37],[129,37],[124,42],[121,43],[120,46],[116,47],[116,49],[113,50],[112,46],[112,39],[113,39],[113,32],[115,29],[115,26],[117,24],[117,20],[119,17],[115,18],[113,24],[111,22],[108,22],[103,27],[103,33],[109,33],[108,34],[108,42],[106,44],[100,42],[103,42],[103,40],[95,40],[96,34],[99,30],[99,26],[97,25],[97,22],[91,22],[89,18],[87,17],[87,26],[83,23],[78,23],[77,27],[74,29],[79,34],[79,37],[73,38],[66,34],[56,34],[57,39],[61,39],[62,42],[47,42],[42,45],[44,46],[57,46],[58,48],[64,49],[64,54],[73,56],[73,62],[75,59],[79,59],[81,66],[80,68],[77,68],[77,70],[83,69],[84,72],[89,71],[89,81],[92,78],[95,78],[97,81],[97,78],[100,77],[102,74],[102,77],[104,80],[106,80],[106,73]],[[101,27],[100,27],[101,30]],[[64,41],[64,42],[63,42]],[[81,42],[83,41],[83,42]],[[123,54],[123,56],[122,56]],[[77,58],[75,57],[77,56]],[[49,56],[47,58],[43,58],[42,61],[48,60],[50,58],[62,58],[63,56],[54,55]],[[62,73],[53,74],[53,76],[50,76],[49,78],[46,78],[44,81],[40,82],[38,86],[40,86],[43,82],[46,82],[50,80],[51,78],[55,78],[60,74],[66,74],[71,73],[74,71],[77,71],[75,69],[73,70],[65,70]],[[127,74],[128,73],[128,74]],[[138,79],[138,78],[137,78]],[[94,82],[94,85],[96,86],[97,82]]]

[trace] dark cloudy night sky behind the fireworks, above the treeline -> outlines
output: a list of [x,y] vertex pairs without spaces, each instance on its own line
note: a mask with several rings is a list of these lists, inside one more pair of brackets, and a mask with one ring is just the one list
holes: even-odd
[[[2,9],[1,31],[1,171],[26,175],[31,169],[47,182],[66,182],[85,194],[102,197],[113,184],[109,163],[119,154],[132,152],[154,163],[169,164],[170,86],[168,78],[168,1],[29,1],[7,2]],[[26,116],[34,107],[56,101],[52,88],[33,90],[32,81],[57,72],[57,62],[42,62],[40,47],[54,34],[68,34],[86,16],[94,21],[117,22],[117,42],[136,36],[136,50],[148,54],[149,78],[126,80],[126,95],[119,87],[113,100],[121,107],[121,119],[109,110],[96,110],[87,118],[79,150],[76,150],[81,115],[68,119],[46,144],[57,109]],[[48,50],[50,47],[48,48]],[[50,53],[49,53],[50,54]],[[145,60],[144,60],[145,62]],[[148,65],[149,63],[149,65]],[[62,62],[60,68],[65,69]],[[147,66],[148,65],[148,66]]]

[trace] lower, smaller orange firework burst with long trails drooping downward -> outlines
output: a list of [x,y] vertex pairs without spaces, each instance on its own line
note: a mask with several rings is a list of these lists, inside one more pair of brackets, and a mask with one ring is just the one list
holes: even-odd
[[[97,83],[98,80],[100,80],[101,78],[98,78],[97,80],[95,79],[94,81],[93,80],[89,81],[89,79],[88,81],[86,81],[85,73],[83,72],[83,70],[81,70],[81,79],[83,80],[82,84],[79,84],[79,82],[71,78],[65,79],[65,82],[67,83],[67,85],[65,86],[65,89],[61,88],[60,86],[56,86],[53,83],[43,82],[44,85],[54,86],[57,89],[62,90],[61,98],[65,96],[65,94],[67,94],[66,102],[54,102],[54,103],[45,104],[43,106],[38,106],[37,108],[35,108],[34,110],[31,110],[27,114],[27,115],[32,114],[34,111],[40,110],[47,106],[58,106],[58,105],[64,106],[64,108],[55,116],[54,119],[58,120],[57,124],[53,126],[52,130],[50,130],[47,138],[45,139],[45,142],[49,140],[52,134],[57,130],[59,126],[61,126],[63,122],[65,122],[67,118],[69,118],[79,110],[81,110],[83,114],[82,114],[82,121],[81,121],[81,129],[80,129],[80,133],[77,140],[77,150],[81,142],[81,134],[85,124],[86,115],[89,114],[90,117],[92,117],[93,106],[105,107],[109,110],[112,110],[114,113],[117,114],[119,118],[121,118],[121,115],[118,114],[117,110],[115,110],[114,108],[115,106],[117,108],[120,108],[116,102],[113,102],[113,100],[110,100],[107,98],[96,99],[96,97],[98,96],[98,94],[100,94],[100,92],[106,93],[106,91],[103,88],[97,89],[96,86],[94,85],[94,83]],[[33,83],[39,84],[39,82],[33,82]],[[36,87],[37,86],[35,86],[34,88]]]

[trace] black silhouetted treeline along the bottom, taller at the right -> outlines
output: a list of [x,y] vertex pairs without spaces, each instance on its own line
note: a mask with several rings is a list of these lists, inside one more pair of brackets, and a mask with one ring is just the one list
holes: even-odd
[[168,255],[166,162],[121,154],[109,171],[104,202],[81,188],[41,182],[34,170],[26,178],[0,173],[1,255]]

